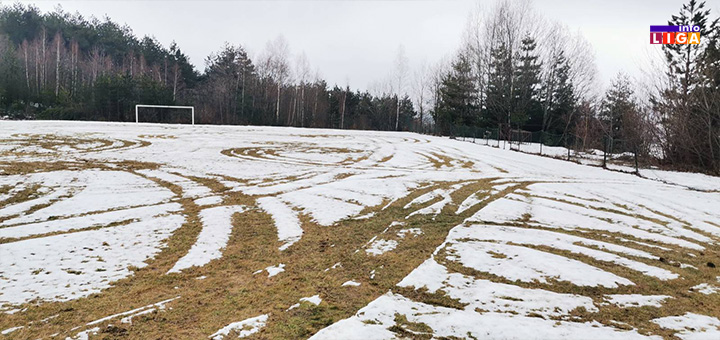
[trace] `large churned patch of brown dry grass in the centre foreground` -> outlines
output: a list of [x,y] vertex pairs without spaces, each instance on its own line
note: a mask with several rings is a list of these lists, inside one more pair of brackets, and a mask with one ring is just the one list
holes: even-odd
[[[158,180],[156,182],[180,194],[179,187]],[[254,205],[253,197],[226,192],[219,183],[205,180],[204,184],[224,193],[226,202]],[[480,181],[470,183],[464,189],[474,192],[480,187],[489,189],[490,186],[488,181]],[[376,214],[369,220],[346,220],[332,227],[323,227],[303,216],[303,238],[284,252],[278,250],[281,243],[277,240],[270,216],[262,210],[251,209],[233,219],[233,233],[221,259],[202,268],[165,275],[175,261],[187,252],[201,229],[197,217],[199,208],[192,200],[180,199],[186,223],[168,239],[167,247],[155,259],[148,261],[147,267],[135,269],[132,277],[122,279],[102,294],[86,299],[28,304],[25,306],[28,307],[26,312],[0,321],[0,328],[35,322],[14,334],[37,338],[59,332],[61,337],[65,337],[73,335],[68,330],[75,326],[181,296],[170,304],[172,309],[135,318],[132,326],[119,324],[117,320],[103,323],[112,323],[115,328],[112,334],[101,335],[204,338],[231,322],[269,313],[268,325],[258,333],[258,338],[307,337],[333,322],[349,317],[385,292],[396,289],[395,284],[428,258],[443,242],[447,232],[462,220],[462,216],[451,213],[441,214],[435,220],[415,216],[403,228],[420,228],[423,234],[402,239],[396,235],[398,228],[387,228],[393,221],[402,220],[408,214],[408,210],[402,208],[407,202],[435,188],[413,193],[385,210],[379,207],[367,209],[364,213]],[[448,208],[448,212],[451,210],[454,211]],[[397,239],[397,249],[380,256],[366,255],[362,249],[376,235]],[[280,275],[268,278],[264,272],[252,274],[279,263],[286,265],[285,272]],[[342,265],[325,271],[336,263]],[[372,271],[375,271],[375,276],[370,279]],[[196,280],[199,276],[207,278]],[[361,285],[341,287],[348,280],[360,282]],[[323,299],[319,306],[303,303],[286,312],[300,298],[315,294],[320,294]],[[438,304],[447,300],[439,294],[407,294],[422,295],[422,299],[429,301],[435,299],[434,303]],[[445,301],[444,304],[458,306],[457,302],[451,301]],[[37,322],[55,314],[58,317],[46,323]]]

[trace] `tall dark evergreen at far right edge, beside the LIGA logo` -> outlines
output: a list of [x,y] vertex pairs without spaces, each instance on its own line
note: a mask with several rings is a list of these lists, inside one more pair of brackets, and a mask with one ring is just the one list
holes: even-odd
[[720,173],[718,19],[690,0],[669,25],[700,27],[701,43],[663,45],[667,80],[652,104],[661,117],[665,160]]

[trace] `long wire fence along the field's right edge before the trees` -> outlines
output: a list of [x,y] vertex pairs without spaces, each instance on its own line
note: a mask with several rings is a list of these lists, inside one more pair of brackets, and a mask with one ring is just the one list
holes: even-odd
[[635,173],[643,160],[633,143],[604,135],[598,137],[597,134],[593,138],[583,138],[543,131],[453,126],[451,138]]

